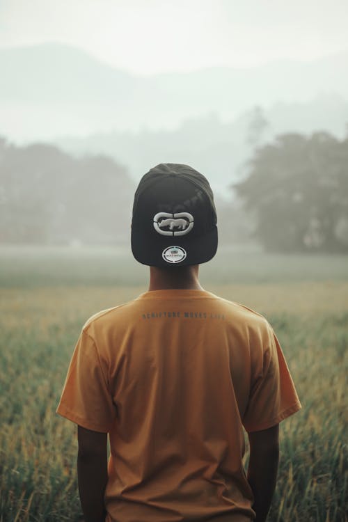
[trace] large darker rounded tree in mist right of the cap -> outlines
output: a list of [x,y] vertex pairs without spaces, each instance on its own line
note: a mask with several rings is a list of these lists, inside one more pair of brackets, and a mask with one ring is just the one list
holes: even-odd
[[278,136],[259,148],[233,189],[271,251],[348,251],[348,139]]

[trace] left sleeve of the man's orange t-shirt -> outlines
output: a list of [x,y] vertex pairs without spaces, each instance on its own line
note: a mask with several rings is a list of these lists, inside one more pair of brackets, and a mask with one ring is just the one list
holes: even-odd
[[56,413],[95,432],[109,432],[116,407],[93,338],[82,330]]

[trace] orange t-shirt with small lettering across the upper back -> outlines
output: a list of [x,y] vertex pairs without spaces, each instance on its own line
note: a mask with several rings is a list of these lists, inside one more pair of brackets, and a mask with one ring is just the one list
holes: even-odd
[[262,315],[156,290],[90,317],[57,413],[109,432],[108,522],[250,522],[244,432],[301,408]]

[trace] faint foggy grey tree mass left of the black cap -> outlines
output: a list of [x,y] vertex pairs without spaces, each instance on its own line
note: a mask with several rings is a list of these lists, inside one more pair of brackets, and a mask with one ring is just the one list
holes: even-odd
[[133,183],[108,157],[0,139],[0,243],[120,243],[129,238]]

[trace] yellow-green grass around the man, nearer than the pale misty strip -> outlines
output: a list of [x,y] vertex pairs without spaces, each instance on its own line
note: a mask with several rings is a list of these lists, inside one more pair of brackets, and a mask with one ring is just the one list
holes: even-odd
[[[24,285],[1,290],[0,522],[75,521],[76,436],[55,415],[85,320],[145,287]],[[269,522],[343,522],[347,501],[348,283],[205,285],[267,316],[303,404],[281,424]]]

